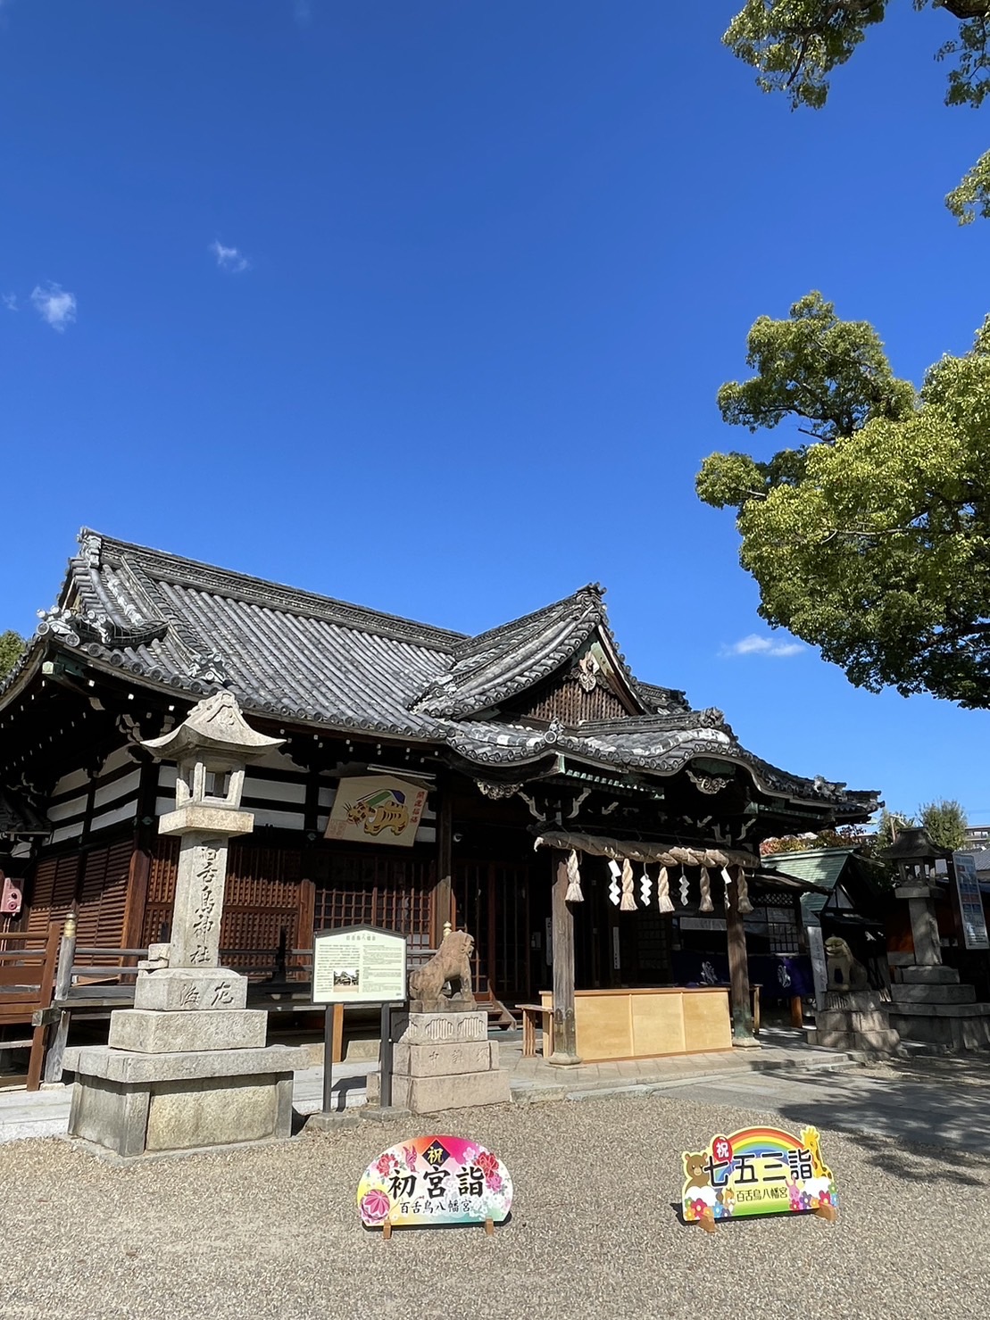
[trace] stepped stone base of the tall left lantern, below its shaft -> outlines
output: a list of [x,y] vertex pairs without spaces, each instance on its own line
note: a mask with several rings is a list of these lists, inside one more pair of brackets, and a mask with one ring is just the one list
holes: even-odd
[[70,1137],[120,1160],[289,1137],[306,1052],[265,1047],[268,1015],[246,997],[247,981],[220,968],[141,973],[140,1007],[111,1014],[110,1044],[66,1059]]

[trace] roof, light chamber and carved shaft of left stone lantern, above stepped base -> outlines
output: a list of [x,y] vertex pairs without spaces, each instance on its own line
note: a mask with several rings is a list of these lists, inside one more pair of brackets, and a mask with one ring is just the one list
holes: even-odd
[[183,723],[141,746],[157,760],[174,760],[176,809],[158,821],[158,833],[181,840],[172,936],[149,950],[169,968],[215,968],[219,964],[227,841],[249,834],[251,812],[240,810],[244,767],[284,739],[252,729],[231,692],[201,701]]

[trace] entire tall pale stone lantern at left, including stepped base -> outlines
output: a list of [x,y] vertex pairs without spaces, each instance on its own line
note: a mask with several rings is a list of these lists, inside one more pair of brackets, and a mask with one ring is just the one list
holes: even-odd
[[125,1162],[289,1137],[305,1051],[267,1047],[268,1014],[246,1007],[247,978],[218,966],[227,843],[255,824],[238,809],[244,764],[281,739],[251,729],[220,692],[144,746],[178,762],[176,810],[158,821],[181,840],[172,935],[149,949],[133,1008],[111,1014],[108,1044],[75,1052],[69,1133]]

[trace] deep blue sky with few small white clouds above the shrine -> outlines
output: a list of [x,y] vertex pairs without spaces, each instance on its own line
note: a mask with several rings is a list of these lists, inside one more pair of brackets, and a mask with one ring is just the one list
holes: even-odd
[[776,447],[714,403],[758,314],[821,289],[915,380],[969,346],[990,120],[907,5],[791,114],[738,3],[0,0],[0,628],[83,524],[465,631],[601,581],[768,760],[990,820],[987,714],[775,653],[693,492]]

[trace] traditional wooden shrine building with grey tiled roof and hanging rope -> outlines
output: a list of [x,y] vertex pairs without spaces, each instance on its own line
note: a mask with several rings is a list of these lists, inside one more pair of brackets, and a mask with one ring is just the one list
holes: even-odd
[[760,841],[876,809],[636,678],[598,586],[466,636],[83,531],[0,686],[0,869],[24,896],[0,937],[75,906],[81,945],[168,940],[176,767],[140,742],[220,688],[284,739],[247,771],[227,964],[362,923],[425,950],[450,921],[494,1016],[552,997],[561,1057],[576,991],[701,990],[705,968],[744,1034],[752,960],[803,950],[803,886]]

